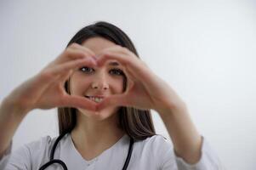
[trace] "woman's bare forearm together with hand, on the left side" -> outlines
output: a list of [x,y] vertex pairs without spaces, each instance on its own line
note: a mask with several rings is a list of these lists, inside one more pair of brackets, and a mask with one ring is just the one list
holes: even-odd
[[0,159],[29,111],[64,106],[94,110],[94,102],[71,96],[63,87],[63,82],[67,81],[72,71],[82,65],[95,65],[91,55],[88,48],[73,43],[42,71],[14,88],[3,99],[0,105]]

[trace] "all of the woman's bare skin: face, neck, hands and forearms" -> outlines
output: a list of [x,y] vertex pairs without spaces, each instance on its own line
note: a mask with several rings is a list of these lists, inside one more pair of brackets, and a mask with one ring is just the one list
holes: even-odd
[[[113,60],[120,64],[128,78],[124,92],[122,77],[113,77],[106,66]],[[94,68],[94,74],[77,71],[84,65]],[[66,94],[63,88],[69,77],[72,95]],[[107,95],[100,103],[84,97],[98,92]],[[78,122],[71,138],[86,160],[99,156],[122,137],[123,132],[117,127],[119,106],[155,110],[168,130],[176,155],[188,163],[200,160],[202,137],[191,121],[185,102],[135,54],[100,37],[88,39],[82,45],[71,44],[42,71],[3,99],[0,157],[30,111],[63,106],[77,108]]]

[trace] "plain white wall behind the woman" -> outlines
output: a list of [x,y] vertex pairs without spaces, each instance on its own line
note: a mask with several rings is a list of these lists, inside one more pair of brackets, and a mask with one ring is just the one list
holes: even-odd
[[[14,1],[0,3],[0,100],[64,50],[83,26],[105,20],[185,100],[227,169],[256,169],[255,1]],[[156,132],[168,137],[153,112]],[[7,130],[7,129],[6,129]],[[56,110],[36,110],[14,149],[57,134]]]

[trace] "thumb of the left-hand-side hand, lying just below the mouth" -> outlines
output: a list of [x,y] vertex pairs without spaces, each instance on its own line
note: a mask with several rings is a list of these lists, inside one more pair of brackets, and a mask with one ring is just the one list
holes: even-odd
[[90,111],[96,111],[96,103],[85,97],[74,96],[66,94],[60,100],[60,106],[62,107],[74,107],[74,108],[82,108]]

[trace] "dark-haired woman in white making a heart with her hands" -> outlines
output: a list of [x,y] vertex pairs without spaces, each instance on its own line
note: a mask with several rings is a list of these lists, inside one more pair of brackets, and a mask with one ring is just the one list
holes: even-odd
[[[33,109],[58,107],[60,136],[11,151],[15,130]],[[174,148],[157,135],[162,118]],[[86,26],[0,107],[0,169],[217,170],[210,149],[174,89],[157,77],[117,26]]]

